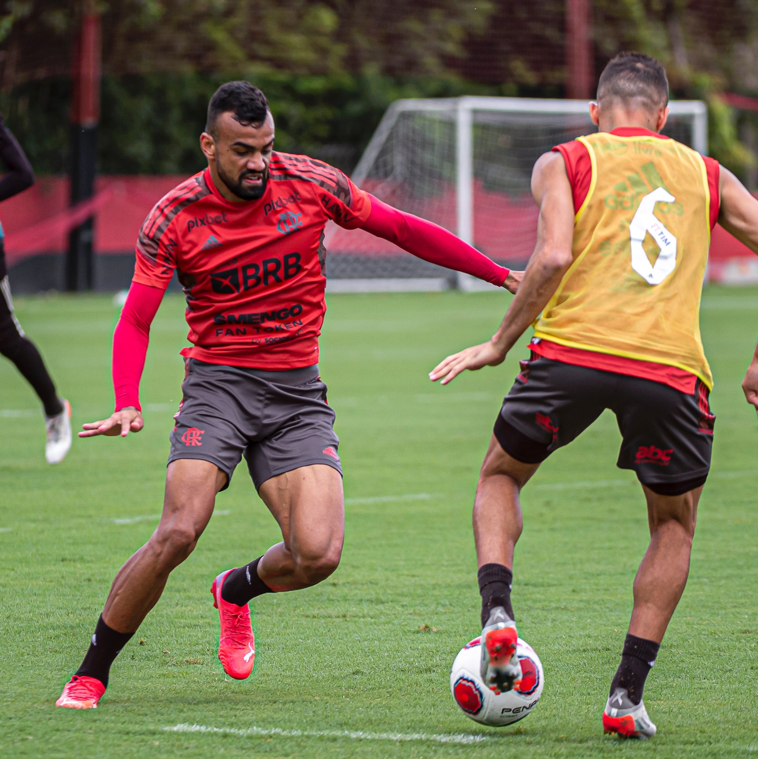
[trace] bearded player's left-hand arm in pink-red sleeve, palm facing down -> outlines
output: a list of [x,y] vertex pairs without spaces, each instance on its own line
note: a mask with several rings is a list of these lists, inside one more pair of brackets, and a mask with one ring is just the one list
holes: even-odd
[[126,437],[139,432],[145,422],[140,408],[140,378],[145,367],[150,324],[156,316],[161,288],[132,282],[121,318],[113,332],[113,388],[116,411],[108,419],[82,425],[80,437]]

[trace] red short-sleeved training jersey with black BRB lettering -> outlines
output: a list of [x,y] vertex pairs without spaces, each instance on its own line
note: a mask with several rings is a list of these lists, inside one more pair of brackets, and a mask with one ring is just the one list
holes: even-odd
[[[342,172],[272,153],[259,200],[231,203],[209,169],[150,212],[137,240],[134,282],[165,289],[174,272],[187,298],[181,354],[211,364],[286,370],[319,360],[326,311],[326,224],[363,224],[369,197]],[[185,444],[200,446],[199,436]]]

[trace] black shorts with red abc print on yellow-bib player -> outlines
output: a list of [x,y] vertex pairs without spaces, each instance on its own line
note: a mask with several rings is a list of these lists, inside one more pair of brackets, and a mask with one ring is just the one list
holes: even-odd
[[505,396],[495,437],[508,455],[538,464],[609,408],[623,441],[617,466],[662,495],[681,495],[708,476],[713,423],[708,388],[687,395],[651,379],[533,356]]

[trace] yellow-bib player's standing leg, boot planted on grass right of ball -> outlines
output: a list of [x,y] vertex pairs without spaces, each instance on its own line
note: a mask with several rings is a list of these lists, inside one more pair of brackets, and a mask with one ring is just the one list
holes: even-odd
[[634,609],[621,665],[611,684],[602,724],[605,732],[651,738],[643,688],[679,603],[690,572],[690,552],[703,487],[681,496],[662,496],[642,486],[647,499],[650,544],[634,578]]

